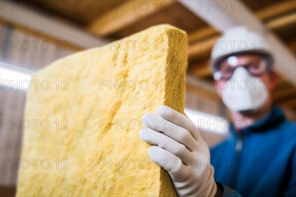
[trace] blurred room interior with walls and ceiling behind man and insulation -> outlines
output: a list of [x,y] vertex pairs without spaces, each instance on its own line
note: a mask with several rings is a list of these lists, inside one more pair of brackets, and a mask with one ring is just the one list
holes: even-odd
[[[279,56],[273,99],[296,121],[295,0],[232,0],[231,9],[227,0],[0,0],[0,5],[0,196],[14,196],[17,182],[13,163],[20,158],[26,102],[26,85],[18,83],[57,59],[154,25],[187,32],[186,114],[209,122],[229,118],[208,66],[215,40],[235,25],[267,31]],[[202,129],[209,146],[227,135],[227,128]],[[3,165],[6,159],[12,165]]]

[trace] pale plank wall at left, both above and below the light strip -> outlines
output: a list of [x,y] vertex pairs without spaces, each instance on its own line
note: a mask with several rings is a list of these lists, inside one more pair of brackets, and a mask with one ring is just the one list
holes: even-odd
[[[1,46],[0,60],[15,66],[38,70],[51,62],[74,53],[70,43],[62,44],[61,41],[48,39],[34,33],[24,31],[18,27],[0,24],[1,45],[8,42],[8,46]],[[27,48],[22,43],[30,43]],[[34,42],[37,43],[34,46]],[[41,43],[44,43],[42,47]],[[56,42],[56,43],[55,43]],[[46,44],[50,45],[47,47]],[[11,46],[14,44],[14,46]],[[68,47],[69,46],[69,47]],[[47,49],[48,48],[48,49]],[[22,123],[26,92],[1,87],[0,90],[0,185],[15,186],[17,170],[20,164],[20,151],[22,143]],[[34,110],[34,109],[32,109]],[[33,124],[32,121],[30,123]],[[23,158],[25,159],[25,158]],[[8,164],[6,164],[8,162]]]

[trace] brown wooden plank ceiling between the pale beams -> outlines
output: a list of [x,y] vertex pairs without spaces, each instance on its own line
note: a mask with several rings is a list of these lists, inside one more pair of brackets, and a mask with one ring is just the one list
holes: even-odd
[[[191,13],[175,0],[117,1],[117,0],[27,0],[58,15],[85,31],[116,40],[157,24],[171,24],[188,33],[188,75],[213,81],[208,67],[211,44],[221,34]],[[296,1],[295,0],[243,0],[267,28],[274,32],[296,53]],[[142,3],[143,2],[143,3]],[[140,8],[141,4],[141,8]],[[148,4],[148,5],[147,5]],[[127,5],[129,9],[127,9]],[[205,46],[201,47],[201,43]],[[296,65],[291,65],[296,66]],[[215,92],[196,90],[209,99],[218,99]],[[276,103],[296,111],[296,89],[279,76],[279,84],[273,92]]]

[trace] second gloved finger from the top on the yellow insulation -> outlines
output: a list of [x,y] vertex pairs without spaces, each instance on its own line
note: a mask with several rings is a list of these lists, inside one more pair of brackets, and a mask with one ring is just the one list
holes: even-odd
[[189,131],[165,120],[161,116],[154,113],[146,113],[142,116],[143,123],[154,131],[162,132],[168,137],[184,144],[189,151],[195,150],[196,140]]

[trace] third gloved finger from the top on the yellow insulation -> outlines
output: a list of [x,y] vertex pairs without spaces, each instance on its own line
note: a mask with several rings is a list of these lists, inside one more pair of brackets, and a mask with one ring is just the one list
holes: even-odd
[[151,129],[140,130],[139,136],[142,140],[152,145],[157,145],[164,150],[169,151],[173,155],[182,160],[184,164],[192,162],[192,153],[176,140],[164,135],[163,133],[153,131]]

